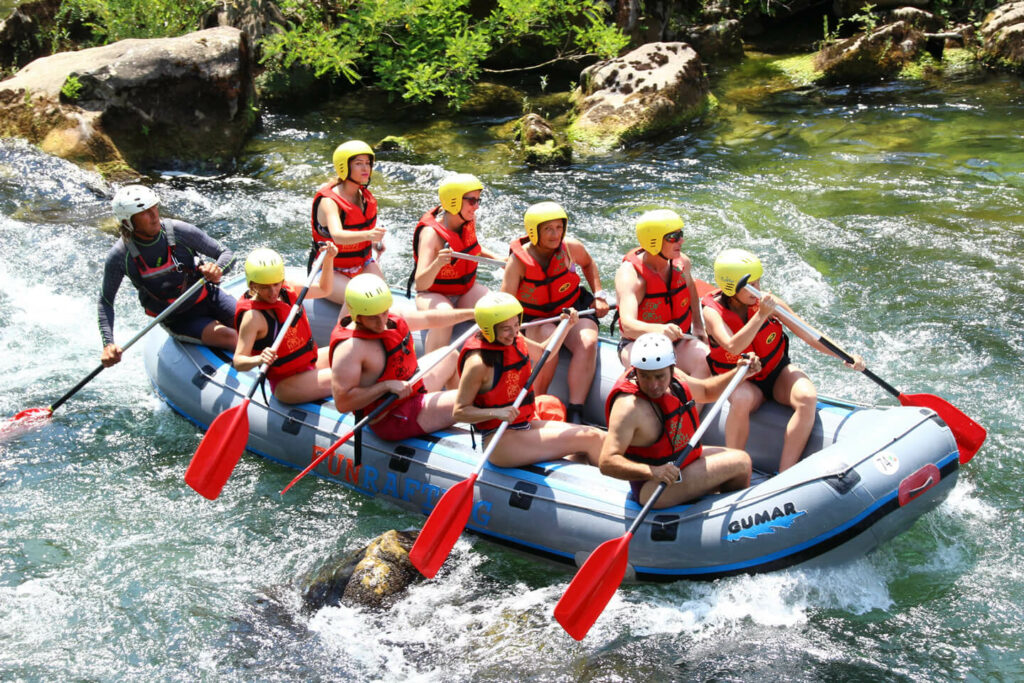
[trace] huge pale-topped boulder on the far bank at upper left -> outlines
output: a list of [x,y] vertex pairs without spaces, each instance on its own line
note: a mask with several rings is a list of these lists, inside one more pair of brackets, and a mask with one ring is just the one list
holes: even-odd
[[249,44],[232,28],[60,52],[0,82],[0,135],[105,175],[225,165],[255,122]]

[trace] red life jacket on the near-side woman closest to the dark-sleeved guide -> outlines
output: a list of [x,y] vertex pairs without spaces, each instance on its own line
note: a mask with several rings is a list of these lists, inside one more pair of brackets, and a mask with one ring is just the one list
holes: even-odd
[[[278,338],[281,326],[292,311],[292,305],[298,298],[298,294],[285,283],[281,288],[281,294],[274,303],[265,303],[253,299],[249,292],[239,297],[234,305],[234,329],[242,328],[242,316],[249,310],[258,310],[266,318],[266,335],[253,342],[253,353],[258,354],[264,348],[271,346],[273,340]],[[309,318],[306,317],[305,309],[300,309],[299,314],[292,321],[291,329],[285,333],[285,338],[278,347],[278,359],[273,361],[267,371],[267,379],[275,383],[291,377],[316,362],[316,344],[313,342],[313,333],[309,328]]]

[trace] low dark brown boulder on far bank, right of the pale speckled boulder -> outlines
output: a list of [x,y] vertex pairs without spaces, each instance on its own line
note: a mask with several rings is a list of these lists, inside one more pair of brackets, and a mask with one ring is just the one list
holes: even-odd
[[869,83],[892,78],[918,58],[925,34],[896,22],[821,48],[814,69],[830,83]]

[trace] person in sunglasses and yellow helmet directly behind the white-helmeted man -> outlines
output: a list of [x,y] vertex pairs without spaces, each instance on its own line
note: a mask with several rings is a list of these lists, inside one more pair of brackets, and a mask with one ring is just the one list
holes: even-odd
[[683,219],[671,209],[648,211],[637,219],[636,232],[640,246],[623,257],[615,272],[620,360],[629,366],[633,340],[656,332],[672,340],[683,372],[710,377],[700,299],[683,253]]

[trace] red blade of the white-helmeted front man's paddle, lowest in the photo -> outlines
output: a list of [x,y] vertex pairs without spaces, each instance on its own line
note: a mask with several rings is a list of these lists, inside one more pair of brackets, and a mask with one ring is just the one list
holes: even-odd
[[605,541],[598,546],[555,605],[555,618],[577,640],[587,636],[590,627],[594,626],[623,583],[632,538],[633,535],[627,532],[620,539]]

